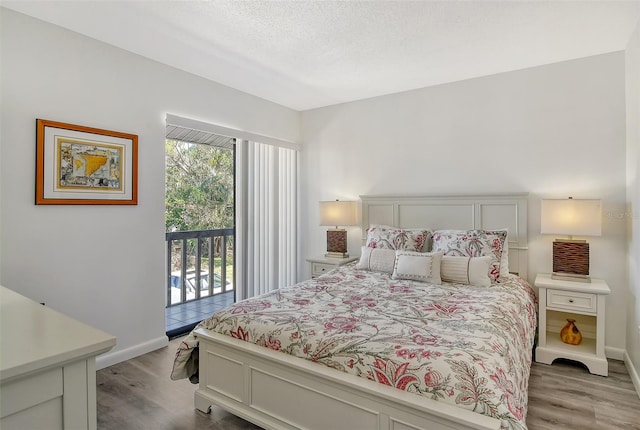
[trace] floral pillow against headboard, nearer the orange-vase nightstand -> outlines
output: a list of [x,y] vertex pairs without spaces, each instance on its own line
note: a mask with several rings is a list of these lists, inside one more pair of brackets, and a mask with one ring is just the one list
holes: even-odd
[[458,257],[491,256],[489,278],[495,282],[500,277],[506,239],[506,230],[436,230],[432,251]]

